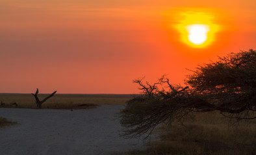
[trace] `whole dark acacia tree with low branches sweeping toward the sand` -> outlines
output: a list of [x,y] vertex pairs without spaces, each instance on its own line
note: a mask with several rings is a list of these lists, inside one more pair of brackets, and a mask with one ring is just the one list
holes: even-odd
[[138,137],[162,123],[183,121],[193,112],[218,110],[229,118],[255,119],[256,52],[240,51],[199,66],[186,79],[186,87],[170,84],[162,76],[157,83],[133,82],[142,94],[127,102],[120,112],[123,136]]

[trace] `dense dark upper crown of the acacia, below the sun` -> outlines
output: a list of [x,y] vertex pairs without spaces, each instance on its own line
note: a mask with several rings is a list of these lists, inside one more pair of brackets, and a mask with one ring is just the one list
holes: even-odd
[[[256,101],[256,52],[239,52],[220,57],[216,63],[199,66],[188,76],[192,94],[216,105],[214,110],[238,119],[250,118]],[[235,116],[234,116],[235,114]]]

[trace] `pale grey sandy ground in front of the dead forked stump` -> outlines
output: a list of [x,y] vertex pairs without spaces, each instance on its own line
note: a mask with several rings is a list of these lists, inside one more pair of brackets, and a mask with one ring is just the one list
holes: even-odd
[[119,136],[123,105],[86,110],[0,108],[0,117],[19,124],[0,129],[0,154],[119,154],[142,149],[139,139]]

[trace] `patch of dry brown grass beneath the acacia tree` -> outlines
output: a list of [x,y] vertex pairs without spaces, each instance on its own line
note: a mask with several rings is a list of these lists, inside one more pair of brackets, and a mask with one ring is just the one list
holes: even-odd
[[216,112],[197,114],[194,120],[186,120],[183,125],[163,125],[157,130],[159,141],[151,141],[146,150],[134,150],[131,154],[255,154],[256,121],[229,125],[229,119]]

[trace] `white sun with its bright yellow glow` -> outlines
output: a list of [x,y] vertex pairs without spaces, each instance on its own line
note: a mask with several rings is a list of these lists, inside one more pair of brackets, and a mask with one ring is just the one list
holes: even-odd
[[219,26],[213,23],[214,17],[204,12],[183,12],[176,28],[181,41],[193,48],[205,48],[214,41]]

